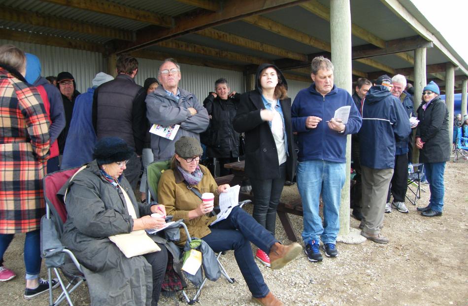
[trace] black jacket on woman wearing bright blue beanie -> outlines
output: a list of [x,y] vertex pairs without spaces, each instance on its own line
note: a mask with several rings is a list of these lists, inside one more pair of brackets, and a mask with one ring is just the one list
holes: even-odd
[[421,103],[417,111],[419,124],[416,138],[420,137],[424,142],[422,150],[419,150],[419,162],[447,162],[450,160],[447,105],[439,97],[435,97],[426,110],[423,105]]

